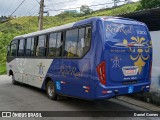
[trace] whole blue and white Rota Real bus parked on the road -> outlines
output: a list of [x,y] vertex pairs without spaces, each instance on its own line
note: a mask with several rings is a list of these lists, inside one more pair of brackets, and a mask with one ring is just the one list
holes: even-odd
[[15,37],[7,72],[57,95],[106,99],[148,92],[152,42],[147,26],[121,17],[93,17]]

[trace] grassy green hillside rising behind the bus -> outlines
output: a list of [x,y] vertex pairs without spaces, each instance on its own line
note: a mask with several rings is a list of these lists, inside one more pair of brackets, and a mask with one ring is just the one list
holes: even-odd
[[[89,15],[73,15],[68,13],[62,13],[56,16],[44,17],[44,29],[63,25],[70,22],[79,21],[85,18],[93,16],[116,16],[118,14],[124,14],[126,12],[134,12],[140,6],[140,3],[132,3],[122,5],[112,9],[102,9],[94,11]],[[19,17],[10,20],[6,23],[0,24],[0,74],[5,73],[6,62],[6,49],[7,45],[17,35],[22,35],[30,32],[37,31],[38,29],[38,17],[27,16]]]

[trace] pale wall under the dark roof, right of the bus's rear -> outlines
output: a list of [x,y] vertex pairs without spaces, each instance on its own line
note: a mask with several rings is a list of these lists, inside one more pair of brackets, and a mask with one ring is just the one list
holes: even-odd
[[151,89],[149,93],[137,93],[131,96],[160,105],[160,31],[152,31],[150,34],[153,45]]

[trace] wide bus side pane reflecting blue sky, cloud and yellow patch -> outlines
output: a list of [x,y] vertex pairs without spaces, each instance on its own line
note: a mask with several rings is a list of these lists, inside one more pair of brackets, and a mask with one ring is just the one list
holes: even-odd
[[63,55],[65,57],[77,57],[77,38],[78,29],[72,29],[66,31],[66,41]]

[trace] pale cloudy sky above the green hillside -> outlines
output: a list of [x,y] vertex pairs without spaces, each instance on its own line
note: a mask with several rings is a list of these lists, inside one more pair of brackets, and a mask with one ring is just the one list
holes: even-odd
[[[23,0],[0,0],[0,16],[10,15],[22,1]],[[13,15],[16,16],[38,15],[39,4],[37,1],[39,2],[40,0],[25,0],[25,2],[19,7],[19,9]],[[105,3],[112,3],[113,2],[112,0],[44,0],[44,1],[45,1],[44,10],[49,11],[50,15],[55,15],[62,12],[61,9],[76,8],[80,7],[81,5],[91,6],[97,4],[104,4],[104,5],[90,7],[93,10],[105,8],[107,6],[108,7],[113,6],[113,4],[105,4]],[[131,0],[131,1],[136,2],[139,0]],[[119,3],[119,5],[120,4],[124,4],[124,2]],[[77,8],[76,10],[79,10],[79,8]]]

